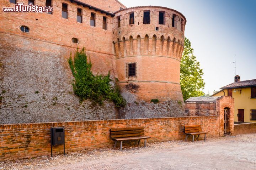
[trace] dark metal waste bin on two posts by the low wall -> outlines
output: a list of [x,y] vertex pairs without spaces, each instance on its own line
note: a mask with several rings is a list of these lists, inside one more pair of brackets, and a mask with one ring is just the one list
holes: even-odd
[[64,145],[64,155],[65,155],[65,129],[64,127],[60,128],[51,128],[51,155],[52,155],[52,146],[55,145]]

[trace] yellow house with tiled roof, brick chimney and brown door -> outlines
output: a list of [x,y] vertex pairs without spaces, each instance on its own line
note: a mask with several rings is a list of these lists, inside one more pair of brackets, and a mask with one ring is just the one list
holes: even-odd
[[220,88],[212,96],[232,96],[235,99],[234,121],[256,123],[256,79],[235,82]]

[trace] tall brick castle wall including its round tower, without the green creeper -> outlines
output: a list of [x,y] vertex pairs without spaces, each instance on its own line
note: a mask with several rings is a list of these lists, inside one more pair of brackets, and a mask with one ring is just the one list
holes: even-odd
[[[0,2],[3,7],[14,6],[8,0],[0,0]],[[17,2],[24,2],[25,5],[28,3],[25,0],[17,0]],[[87,0],[82,2],[90,4]],[[68,19],[61,17],[62,3],[68,5]],[[91,3],[92,6],[99,8],[106,5],[106,1],[100,0]],[[45,0],[35,1],[35,4],[45,6]],[[108,4],[110,5],[102,9],[119,10],[119,2],[108,0]],[[0,100],[0,124],[186,116],[178,75],[185,27],[185,23],[181,22],[182,18],[185,19],[181,13],[169,8],[148,7],[147,9],[151,11],[151,24],[142,26],[143,12],[140,10],[146,8],[135,7],[135,24],[127,25],[127,11],[132,10],[127,9],[116,13],[116,16],[122,15],[122,27],[117,28],[116,17],[89,7],[64,0],[53,1],[52,7],[54,8],[52,15],[0,11],[2,56],[0,58],[0,91],[5,91],[1,94]],[[77,8],[82,8],[82,23],[76,22]],[[157,23],[159,10],[166,11],[165,25]],[[95,13],[95,27],[90,26],[91,12]],[[172,14],[176,14],[173,28],[171,27]],[[107,30],[102,29],[103,17],[107,17]],[[29,27],[30,31],[21,32],[21,26]],[[158,32],[155,26],[159,26]],[[118,31],[122,31],[120,35]],[[130,83],[126,83],[127,80],[122,78],[122,75],[125,63],[129,60],[133,62],[132,55],[137,55],[137,33],[141,36],[141,54],[145,56],[142,60],[137,58],[138,61],[136,61],[140,82],[132,80],[131,83],[134,83],[137,89],[134,90],[130,89]],[[143,45],[146,44],[144,40],[146,34],[149,36],[148,49]],[[154,34],[156,46],[153,55]],[[124,47],[130,49],[130,47],[129,44],[126,46],[120,42],[121,56],[118,53],[116,57],[117,44],[113,45],[113,41],[116,42],[117,37],[121,41],[123,37],[128,40],[130,35],[134,37],[134,54],[128,50],[126,53],[129,57],[122,59],[121,56],[124,57],[122,49]],[[162,35],[164,39],[161,39]],[[71,41],[72,38],[78,38],[79,43],[74,44]],[[176,38],[175,41],[174,38]],[[160,40],[162,40],[161,43]],[[74,54],[77,47],[86,48],[95,74],[106,75],[110,71],[112,79],[119,78],[122,94],[128,101],[127,107],[118,112],[113,103],[109,102],[104,106],[96,107],[91,106],[87,101],[83,104],[79,103],[78,98],[73,95],[71,86],[73,76],[66,62],[70,52]],[[116,48],[116,50],[119,49]],[[153,67],[150,63],[155,63],[158,67]],[[171,67],[166,67],[166,63]],[[155,71],[149,72],[154,69]],[[155,72],[159,74],[156,75]],[[39,93],[35,94],[36,91]],[[159,104],[149,103],[155,98],[159,98]]]

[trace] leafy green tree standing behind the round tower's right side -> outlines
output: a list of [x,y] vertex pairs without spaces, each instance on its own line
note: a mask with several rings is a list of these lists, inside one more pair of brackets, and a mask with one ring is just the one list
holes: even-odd
[[205,85],[202,79],[203,70],[200,68],[196,56],[193,55],[193,51],[190,40],[185,38],[180,70],[180,84],[184,100],[204,94],[200,90]]

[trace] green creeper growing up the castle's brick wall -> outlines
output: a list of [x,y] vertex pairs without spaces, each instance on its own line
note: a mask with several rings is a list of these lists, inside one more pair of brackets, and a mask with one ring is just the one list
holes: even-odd
[[108,75],[94,75],[91,71],[92,63],[87,62],[85,49],[76,51],[74,61],[71,54],[68,60],[69,67],[74,76],[73,90],[80,100],[89,99],[92,102],[103,104],[104,100],[112,100],[117,107],[125,105],[117,85],[111,87],[110,73]]

